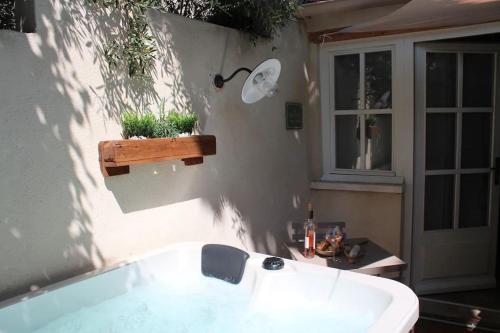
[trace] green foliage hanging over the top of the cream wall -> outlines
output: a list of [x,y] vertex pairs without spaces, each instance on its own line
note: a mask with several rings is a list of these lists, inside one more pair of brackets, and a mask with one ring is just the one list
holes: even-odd
[[124,66],[132,78],[151,76],[157,47],[147,19],[149,9],[228,26],[250,39],[272,38],[294,18],[298,0],[88,0],[118,12],[125,30],[107,43],[104,56],[111,69]]

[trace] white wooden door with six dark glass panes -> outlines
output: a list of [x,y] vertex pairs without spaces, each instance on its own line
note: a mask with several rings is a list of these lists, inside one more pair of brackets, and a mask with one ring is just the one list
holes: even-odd
[[419,294],[495,286],[498,74],[495,46],[415,49],[412,284]]

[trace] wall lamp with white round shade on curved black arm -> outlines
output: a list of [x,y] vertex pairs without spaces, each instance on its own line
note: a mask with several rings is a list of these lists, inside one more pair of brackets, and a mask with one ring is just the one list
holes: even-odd
[[214,85],[217,88],[224,87],[224,83],[230,81],[241,71],[250,74],[241,90],[241,99],[246,104],[255,103],[264,96],[273,97],[278,92],[278,78],[281,72],[281,63],[278,59],[268,59],[253,71],[244,67],[238,68],[227,79],[217,74],[214,78]]

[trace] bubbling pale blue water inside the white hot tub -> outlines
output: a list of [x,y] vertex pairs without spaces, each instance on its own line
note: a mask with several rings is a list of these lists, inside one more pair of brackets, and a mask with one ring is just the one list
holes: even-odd
[[255,304],[242,288],[210,280],[203,292],[175,285],[135,287],[65,314],[33,333],[361,333],[373,323],[369,316],[304,300]]

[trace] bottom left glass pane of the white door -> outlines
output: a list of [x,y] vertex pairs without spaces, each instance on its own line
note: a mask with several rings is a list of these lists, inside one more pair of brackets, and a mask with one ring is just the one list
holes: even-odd
[[424,230],[453,228],[455,176],[425,177]]

